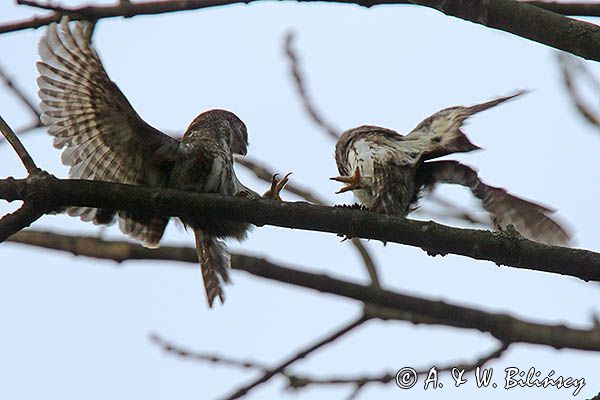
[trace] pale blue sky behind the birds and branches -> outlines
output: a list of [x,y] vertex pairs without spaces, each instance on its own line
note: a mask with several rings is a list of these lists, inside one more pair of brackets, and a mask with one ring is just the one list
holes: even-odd
[[[0,5],[2,22],[37,12],[7,3]],[[337,173],[333,143],[307,118],[290,81],[282,51],[288,29],[297,32],[311,96],[340,129],[370,123],[406,132],[440,108],[532,89],[476,116],[466,131],[485,150],[456,158],[475,166],[492,185],[558,208],[577,233],[576,245],[600,250],[600,133],[573,111],[555,52],[545,46],[420,7],[276,2],[102,20],[94,40],[111,78],[155,127],[182,131],[206,109],[232,110],[248,126],[253,157],[278,171],[293,171],[294,181],[332,203],[350,202],[349,194],[333,194],[339,188],[327,179]],[[42,32],[0,35],[0,64],[36,101],[36,48]],[[588,65],[600,73],[596,63]],[[27,110],[4,87],[0,104],[13,127],[29,122]],[[24,142],[41,167],[66,176],[43,130]],[[24,175],[6,145],[0,145],[0,168],[2,176]],[[266,188],[241,169],[239,175],[257,191]],[[444,193],[455,202],[475,204],[462,190]],[[3,213],[14,207],[0,203]],[[44,217],[34,228],[98,234],[96,227],[66,216]],[[102,235],[123,239],[116,227]],[[172,224],[164,242],[192,245],[193,239]],[[401,292],[550,324],[584,327],[600,314],[597,284],[459,256],[432,258],[396,244],[371,242],[368,247],[385,286]],[[354,250],[335,235],[264,227],[242,244],[231,242],[230,248],[366,282]],[[117,265],[2,244],[0,265],[3,399],[215,398],[255,375],[167,355],[148,341],[148,333],[192,349],[276,364],[360,311],[351,301],[241,272],[233,273],[226,305],[209,311],[197,268],[174,263]],[[295,370],[323,376],[376,374],[470,361],[494,346],[489,335],[475,331],[373,321]],[[577,398],[600,390],[600,357],[594,353],[515,345],[490,365],[497,373],[509,366],[535,366],[545,374],[554,369],[584,377],[587,386]],[[248,398],[330,399],[349,391],[319,387],[282,394],[283,383],[273,379]],[[360,398],[405,394],[418,399],[565,399],[571,390],[476,390],[467,384],[401,393],[394,385],[371,385]]]

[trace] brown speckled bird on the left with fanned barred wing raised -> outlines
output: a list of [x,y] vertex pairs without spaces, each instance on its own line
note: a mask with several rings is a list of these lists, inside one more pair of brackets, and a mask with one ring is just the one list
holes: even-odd
[[[233,155],[246,154],[248,133],[244,123],[224,110],[196,117],[181,140],[148,125],[113,83],[90,43],[92,24],[51,24],[39,44],[42,61],[37,67],[42,122],[62,148],[62,162],[71,178],[132,185],[169,187],[201,193],[259,197],[245,187],[233,169]],[[273,184],[268,197],[278,193],[288,176]],[[169,218],[126,211],[71,208],[70,215],[84,221],[108,224],[119,221],[121,231],[144,246],[157,247]],[[193,229],[206,297],[212,307],[224,300],[229,282],[229,253],[220,240],[243,239],[249,224],[183,220]]]

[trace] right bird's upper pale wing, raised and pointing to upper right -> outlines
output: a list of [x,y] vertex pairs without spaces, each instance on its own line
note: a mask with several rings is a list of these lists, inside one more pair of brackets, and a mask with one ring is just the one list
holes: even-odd
[[519,91],[470,107],[456,106],[445,108],[424,119],[415,129],[402,138],[420,152],[422,160],[429,160],[451,153],[464,153],[479,149],[461,131],[463,123],[473,114],[495,107],[500,103],[526,93]]

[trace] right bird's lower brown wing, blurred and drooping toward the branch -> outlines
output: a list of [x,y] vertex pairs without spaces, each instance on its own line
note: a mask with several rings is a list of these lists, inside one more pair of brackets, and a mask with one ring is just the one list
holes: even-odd
[[513,225],[526,238],[550,245],[566,245],[571,240],[569,232],[549,217],[555,210],[513,196],[504,189],[486,185],[475,170],[457,161],[430,161],[419,167],[418,186],[427,187],[437,183],[468,187],[501,228]]

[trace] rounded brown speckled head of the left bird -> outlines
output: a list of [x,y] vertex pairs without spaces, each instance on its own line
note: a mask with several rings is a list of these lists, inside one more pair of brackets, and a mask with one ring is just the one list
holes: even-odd
[[223,140],[234,154],[245,156],[248,150],[248,129],[237,115],[226,110],[209,110],[198,115],[188,127],[184,139],[194,132],[209,131],[215,139]]

